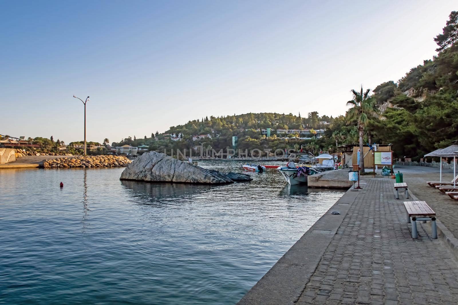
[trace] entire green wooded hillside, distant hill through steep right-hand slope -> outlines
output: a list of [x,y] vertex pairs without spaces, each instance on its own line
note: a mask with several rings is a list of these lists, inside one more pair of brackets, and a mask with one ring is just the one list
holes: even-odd
[[[433,59],[412,68],[398,81],[383,82],[369,93],[368,105],[380,109],[380,115],[367,119],[364,143],[391,143],[396,157],[418,160],[458,140],[458,12],[450,14],[443,33],[434,40],[438,54]],[[242,149],[303,146],[314,153],[320,150],[334,152],[340,144],[358,143],[358,121],[349,113],[337,118],[320,117],[317,112],[304,117],[298,112],[297,116],[292,113],[246,113],[196,118],[173,126],[163,134],[156,132],[141,139],[128,137],[113,144],[148,145],[151,150],[159,151],[187,149],[199,144],[226,149],[232,146],[232,136],[238,136],[237,145]],[[266,128],[272,128],[273,137],[266,138],[262,134],[262,129]],[[301,129],[312,128],[326,131],[322,137],[309,133],[305,136],[309,139],[300,139],[304,138]],[[286,137],[283,131],[277,133],[278,129],[299,129],[299,132],[294,131]],[[211,139],[193,139],[203,134],[210,134]]]

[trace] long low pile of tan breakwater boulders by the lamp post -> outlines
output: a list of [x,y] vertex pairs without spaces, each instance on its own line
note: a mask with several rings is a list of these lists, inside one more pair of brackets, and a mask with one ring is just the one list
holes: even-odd
[[118,167],[128,166],[130,163],[131,161],[124,156],[94,155],[44,160],[43,167]]

